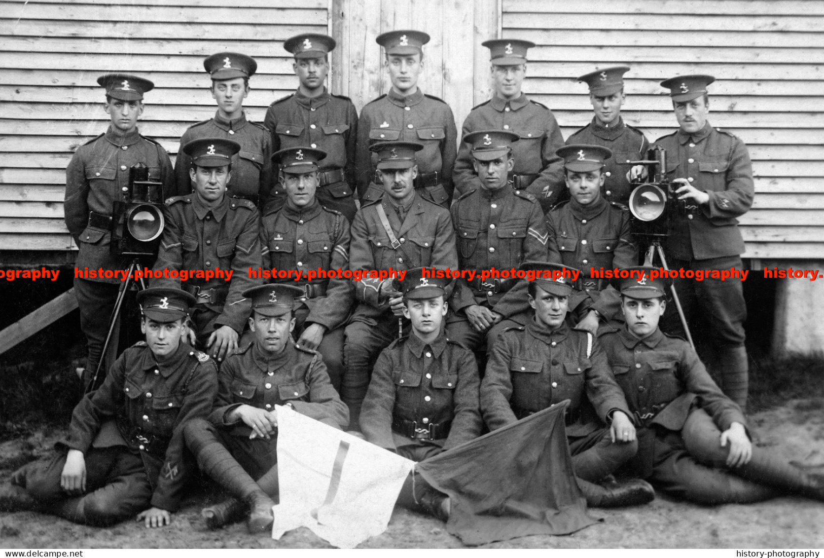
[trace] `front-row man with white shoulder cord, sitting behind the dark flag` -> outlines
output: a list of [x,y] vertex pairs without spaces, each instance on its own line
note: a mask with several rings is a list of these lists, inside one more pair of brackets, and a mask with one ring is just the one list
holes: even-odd
[[610,479],[606,490],[592,485],[638,449],[630,410],[592,333],[571,329],[565,322],[571,280],[566,276],[553,280],[550,274],[573,270],[540,262],[524,263],[521,268],[541,272],[528,287],[534,314],[526,326],[501,333],[489,351],[480,385],[480,408],[489,430],[569,399],[567,439],[588,504],[612,507],[653,500],[654,491],[645,482],[619,485]]

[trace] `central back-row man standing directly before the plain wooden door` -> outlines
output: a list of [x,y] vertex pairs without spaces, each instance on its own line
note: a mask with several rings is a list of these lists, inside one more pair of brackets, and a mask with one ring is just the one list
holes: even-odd
[[361,204],[382,198],[376,184],[376,159],[370,152],[375,142],[418,142],[415,188],[422,198],[449,208],[452,200],[452,165],[455,164],[457,130],[452,109],[433,95],[424,95],[418,77],[424,67],[424,44],[429,35],[420,31],[390,31],[378,35],[377,44],[386,52],[386,67],[392,82],[389,93],[363,107],[358,123],[355,178]]

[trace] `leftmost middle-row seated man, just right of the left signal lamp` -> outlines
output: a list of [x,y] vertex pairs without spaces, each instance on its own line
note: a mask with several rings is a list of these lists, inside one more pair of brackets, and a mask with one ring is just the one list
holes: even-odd
[[226,196],[232,156],[240,150],[239,143],[222,137],[183,146],[194,193],[166,200],[166,228],[152,270],[155,277],[162,275],[152,286],[176,287],[196,297],[194,332],[218,361],[237,348],[250,312],[241,292],[258,282],[249,268],[261,265],[255,204]]

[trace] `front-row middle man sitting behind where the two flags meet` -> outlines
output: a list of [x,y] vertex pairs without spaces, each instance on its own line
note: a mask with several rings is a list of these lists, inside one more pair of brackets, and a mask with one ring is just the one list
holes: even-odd
[[[398,455],[423,461],[480,435],[478,369],[471,351],[441,331],[448,279],[410,269],[396,288],[412,332],[386,347],[375,363],[360,417],[363,435]],[[406,478],[398,503],[446,521],[447,495],[419,475]]]

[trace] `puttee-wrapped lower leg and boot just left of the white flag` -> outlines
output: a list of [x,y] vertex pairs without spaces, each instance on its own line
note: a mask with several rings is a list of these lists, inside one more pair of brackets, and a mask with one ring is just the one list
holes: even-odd
[[[246,527],[250,533],[263,532],[272,527],[274,502],[269,495],[260,489],[260,486],[249,476],[249,473],[235,461],[222,444],[210,442],[192,444],[192,452],[197,456],[198,465],[209,477],[235,495],[249,509],[249,518]],[[202,512],[207,524],[208,508]]]

